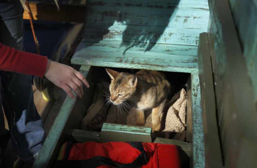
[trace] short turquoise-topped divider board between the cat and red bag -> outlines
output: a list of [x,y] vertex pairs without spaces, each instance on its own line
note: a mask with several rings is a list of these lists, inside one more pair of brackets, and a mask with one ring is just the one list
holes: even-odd
[[139,141],[152,142],[152,130],[148,127],[104,123],[101,141]]

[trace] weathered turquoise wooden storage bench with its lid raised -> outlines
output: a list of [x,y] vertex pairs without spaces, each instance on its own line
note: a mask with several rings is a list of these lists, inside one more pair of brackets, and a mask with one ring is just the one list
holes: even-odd
[[[185,153],[191,157],[191,167],[204,167],[197,51],[199,34],[207,32],[208,27],[207,0],[90,0],[87,1],[86,11],[84,36],[71,60],[72,64],[82,65],[81,72],[86,77],[93,66],[191,74],[187,90],[189,143],[184,142],[187,146]],[[90,96],[87,98],[91,99]],[[53,165],[60,149],[60,137],[65,134],[63,130],[68,128],[66,122],[75,102],[69,97],[65,99],[35,167]],[[82,118],[77,119],[79,122],[81,120]],[[96,136],[92,132],[89,137],[101,137]],[[171,144],[175,142],[168,139],[158,141]],[[182,144],[182,149],[184,148],[183,142],[178,144]]]

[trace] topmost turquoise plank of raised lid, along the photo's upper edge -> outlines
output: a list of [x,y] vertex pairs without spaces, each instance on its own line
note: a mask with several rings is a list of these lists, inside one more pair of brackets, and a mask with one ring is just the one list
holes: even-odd
[[88,0],[87,5],[94,6],[137,6],[137,7],[155,7],[155,8],[168,8],[168,7],[176,7],[178,9],[188,9],[188,10],[208,10],[208,1],[207,0]]

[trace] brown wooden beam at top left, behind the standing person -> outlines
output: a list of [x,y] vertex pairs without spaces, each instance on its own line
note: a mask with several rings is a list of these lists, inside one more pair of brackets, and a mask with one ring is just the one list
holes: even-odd
[[[60,11],[54,3],[44,4],[38,2],[29,3],[34,20],[58,21],[58,22],[85,22],[85,6],[60,5]],[[23,19],[29,19],[28,11],[24,10]]]

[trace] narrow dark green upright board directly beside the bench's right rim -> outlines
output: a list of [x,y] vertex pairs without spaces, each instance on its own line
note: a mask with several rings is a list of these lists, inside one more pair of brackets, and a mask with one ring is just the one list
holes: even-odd
[[[219,139],[216,100],[213,86],[211,56],[207,33],[200,34],[198,66],[203,110],[203,130],[206,167],[222,167],[222,153]],[[215,156],[215,157],[213,157]]]

